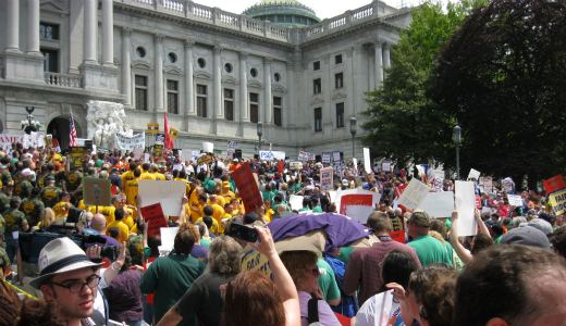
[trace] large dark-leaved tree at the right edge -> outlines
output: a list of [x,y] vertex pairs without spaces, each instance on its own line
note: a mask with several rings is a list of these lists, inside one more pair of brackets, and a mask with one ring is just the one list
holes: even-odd
[[439,111],[463,127],[463,166],[531,183],[564,172],[566,1],[492,1],[454,34],[433,75]]

